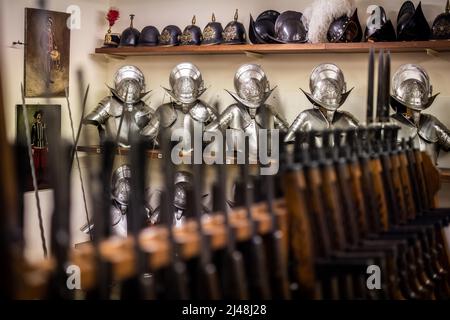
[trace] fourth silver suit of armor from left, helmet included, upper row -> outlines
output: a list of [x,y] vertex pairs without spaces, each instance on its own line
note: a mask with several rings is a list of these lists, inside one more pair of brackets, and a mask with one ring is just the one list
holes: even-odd
[[[358,120],[337,109],[344,104],[351,90],[346,91],[342,71],[331,63],[317,66],[310,77],[311,93],[303,91],[314,108],[301,112],[289,127],[285,141],[295,140],[296,132],[324,129],[349,129],[358,126]],[[320,141],[317,141],[320,144]]]

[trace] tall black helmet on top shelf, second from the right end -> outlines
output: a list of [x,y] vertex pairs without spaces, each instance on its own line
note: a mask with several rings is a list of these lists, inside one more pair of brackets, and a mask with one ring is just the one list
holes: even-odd
[[399,41],[426,41],[431,36],[430,26],[422,11],[422,3],[417,8],[406,1],[397,17],[397,38]]

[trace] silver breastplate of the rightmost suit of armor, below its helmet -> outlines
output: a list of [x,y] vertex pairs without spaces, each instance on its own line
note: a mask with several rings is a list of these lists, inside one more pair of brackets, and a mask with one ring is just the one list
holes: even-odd
[[437,163],[439,145],[431,117],[421,114],[419,127],[416,127],[411,120],[399,113],[392,115],[391,118],[400,127],[397,136],[398,143],[401,143],[403,139],[413,138],[414,147],[419,148],[420,151],[426,151],[433,162]]

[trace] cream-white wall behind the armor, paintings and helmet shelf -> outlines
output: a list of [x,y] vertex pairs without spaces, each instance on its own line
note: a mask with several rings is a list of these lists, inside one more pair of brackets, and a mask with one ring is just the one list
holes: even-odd
[[[309,54],[309,55],[267,55],[261,59],[249,58],[245,55],[228,56],[149,56],[134,57],[125,60],[110,60],[107,63],[102,56],[92,56],[96,47],[101,46],[103,36],[107,30],[104,15],[110,5],[116,6],[121,12],[121,19],[114,32],[121,32],[129,24],[128,14],[134,13],[135,27],[142,29],[146,25],[155,25],[160,31],[168,24],[177,24],[181,29],[190,24],[193,14],[197,16],[197,25],[202,29],[210,20],[211,12],[215,12],[217,21],[225,26],[233,18],[235,8],[239,8],[239,20],[246,28],[249,22],[249,13],[255,17],[265,9],[271,8],[278,11],[303,9],[311,1],[280,0],[53,0],[48,1],[49,9],[65,11],[70,4],[81,7],[82,28],[74,30],[71,34],[71,72],[70,92],[74,118],[79,117],[79,101],[77,98],[78,88],[76,86],[75,72],[78,67],[84,70],[86,82],[90,83],[90,95],[88,109],[95,107],[97,101],[108,94],[104,83],[111,83],[114,72],[123,64],[135,64],[143,70],[146,75],[148,89],[152,89],[150,103],[156,108],[163,99],[161,85],[168,85],[170,70],[177,63],[191,61],[198,65],[203,73],[205,83],[210,86],[205,93],[206,101],[218,102],[220,110],[223,110],[232,102],[230,96],[223,89],[233,89],[233,76],[235,70],[242,63],[255,62],[261,64],[268,74],[270,83],[278,85],[269,102],[278,105],[282,113],[291,122],[302,110],[309,108],[310,104],[299,91],[299,87],[308,89],[308,79],[311,70],[319,63],[334,62],[338,64],[347,79],[349,87],[355,87],[343,110],[352,112],[359,120],[364,121],[365,97],[367,83],[367,55],[366,54]],[[368,4],[379,3],[384,6],[389,17],[395,25],[398,9],[403,1],[356,1],[359,18],[364,27],[366,19],[365,8]],[[418,1],[414,1],[416,4]],[[430,23],[435,16],[443,11],[444,0],[422,1],[425,15]],[[3,43],[0,44],[4,60],[2,70],[4,92],[6,101],[7,132],[10,139],[15,138],[15,105],[21,103],[20,82],[23,81],[23,49],[9,48],[12,41],[23,41],[24,29],[24,7],[36,7],[37,1],[32,0],[0,0],[0,23],[3,34]],[[403,63],[419,63],[429,72],[435,92],[441,92],[429,112],[436,115],[444,124],[450,127],[449,105],[450,105],[450,53],[441,53],[437,56],[429,56],[425,53],[395,53],[392,56],[392,69],[395,70]],[[45,103],[42,99],[30,99],[29,103]],[[62,105],[62,134],[70,137],[70,126],[64,99],[55,99],[54,103]],[[90,129],[95,135],[95,130]],[[124,159],[119,159],[123,161]],[[440,165],[450,167],[450,154],[441,157]],[[83,161],[84,163],[84,161]],[[154,170],[155,173],[158,170]],[[78,228],[84,223],[84,210],[82,205],[80,184],[78,183],[78,172],[74,171],[73,193],[74,201],[72,212],[74,213],[73,230],[75,242],[86,239],[80,234]],[[86,179],[85,179],[86,180]],[[51,200],[51,192],[41,192],[44,202],[46,221],[48,221]],[[442,203],[448,204],[450,190],[448,188],[442,193]],[[29,246],[27,253],[29,257],[39,258],[42,256],[38,224],[34,208],[33,194],[27,195],[27,239]],[[89,200],[89,199],[88,199]],[[45,225],[49,231],[48,223]]]

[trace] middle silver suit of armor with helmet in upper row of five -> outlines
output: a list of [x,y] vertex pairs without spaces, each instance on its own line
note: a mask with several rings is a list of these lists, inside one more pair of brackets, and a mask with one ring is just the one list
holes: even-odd
[[207,131],[230,129],[231,141],[227,136],[228,148],[237,152],[244,150],[244,139],[248,136],[249,155],[254,158],[258,154],[259,130],[276,128],[286,131],[288,124],[273,106],[265,104],[273,89],[270,89],[260,66],[242,65],[234,77],[234,87],[237,93],[228,93],[237,103],[227,107],[218,121],[207,127]]

